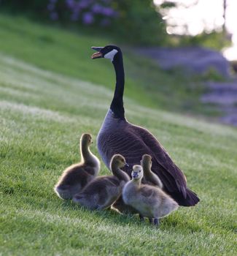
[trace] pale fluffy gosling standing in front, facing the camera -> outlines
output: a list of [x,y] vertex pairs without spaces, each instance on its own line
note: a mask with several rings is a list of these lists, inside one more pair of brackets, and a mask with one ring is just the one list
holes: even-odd
[[141,184],[143,170],[141,165],[133,165],[132,180],[123,188],[123,200],[133,206],[143,217],[148,217],[150,222],[159,224],[159,219],[176,210],[179,205],[160,188]]

